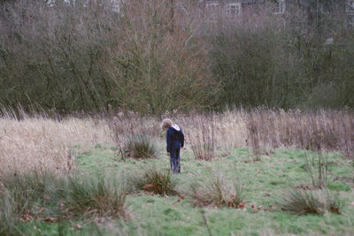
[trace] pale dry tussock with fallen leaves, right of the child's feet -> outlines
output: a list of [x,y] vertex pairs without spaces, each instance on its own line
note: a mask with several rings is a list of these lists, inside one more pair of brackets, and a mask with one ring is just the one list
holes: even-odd
[[243,191],[240,182],[236,179],[229,182],[225,177],[216,176],[209,182],[192,184],[191,197],[196,200],[196,205],[239,208]]

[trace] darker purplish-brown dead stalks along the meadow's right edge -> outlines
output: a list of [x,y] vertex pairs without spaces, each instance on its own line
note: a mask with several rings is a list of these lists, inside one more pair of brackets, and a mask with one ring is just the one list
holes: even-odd
[[353,157],[354,119],[350,110],[285,111],[258,108],[247,112],[238,110],[236,114],[242,117],[246,125],[250,124],[249,116],[252,117],[253,122],[248,129],[246,126],[246,131],[259,133],[259,139],[255,139],[258,142],[255,143],[260,148],[337,150]]

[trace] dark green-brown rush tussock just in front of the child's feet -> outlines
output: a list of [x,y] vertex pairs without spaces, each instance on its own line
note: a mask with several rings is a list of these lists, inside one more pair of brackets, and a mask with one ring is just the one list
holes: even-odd
[[141,176],[133,178],[137,189],[149,191],[155,194],[176,194],[176,183],[170,170],[159,171],[150,167]]

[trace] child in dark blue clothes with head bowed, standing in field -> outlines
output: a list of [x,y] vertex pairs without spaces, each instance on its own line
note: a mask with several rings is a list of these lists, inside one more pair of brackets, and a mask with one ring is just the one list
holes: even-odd
[[181,172],[180,153],[184,147],[184,134],[181,127],[173,124],[172,120],[165,118],[162,121],[162,129],[166,132],[167,156],[170,156],[171,171],[173,173]]

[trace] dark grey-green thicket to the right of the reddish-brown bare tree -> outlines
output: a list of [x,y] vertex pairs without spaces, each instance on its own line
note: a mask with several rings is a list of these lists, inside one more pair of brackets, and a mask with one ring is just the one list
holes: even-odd
[[353,38],[344,33],[340,17],[326,27],[342,37],[327,45],[332,35],[307,34],[313,29],[305,16],[278,21],[269,15],[221,21],[209,33],[212,72],[221,85],[219,105],[352,107]]

